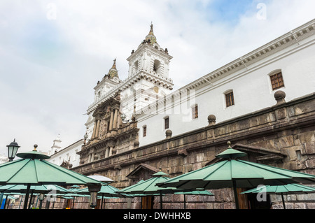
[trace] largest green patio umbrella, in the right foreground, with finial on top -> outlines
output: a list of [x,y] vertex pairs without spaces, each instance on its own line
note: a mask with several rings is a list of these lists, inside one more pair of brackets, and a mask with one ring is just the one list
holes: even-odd
[[220,189],[230,187],[234,190],[235,206],[238,209],[237,187],[253,188],[258,185],[315,182],[315,175],[236,159],[246,156],[246,153],[232,149],[230,142],[228,142],[228,145],[227,150],[216,155],[216,157],[225,160],[179,175],[165,182],[159,182],[158,186],[182,189]]

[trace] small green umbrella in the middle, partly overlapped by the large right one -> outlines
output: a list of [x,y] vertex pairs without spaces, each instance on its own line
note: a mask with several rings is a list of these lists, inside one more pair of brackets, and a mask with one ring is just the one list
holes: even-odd
[[155,196],[157,194],[160,195],[160,208],[162,209],[162,194],[174,194],[175,192],[188,192],[190,189],[177,189],[174,187],[158,187],[157,184],[161,182],[165,182],[165,180],[169,180],[169,178],[166,176],[167,173],[163,173],[162,171],[159,171],[157,173],[154,173],[152,176],[153,178],[150,178],[148,180],[139,181],[137,184],[132,185],[130,187],[126,187],[124,189],[120,189],[120,192],[117,192],[119,194],[134,194],[136,196]]

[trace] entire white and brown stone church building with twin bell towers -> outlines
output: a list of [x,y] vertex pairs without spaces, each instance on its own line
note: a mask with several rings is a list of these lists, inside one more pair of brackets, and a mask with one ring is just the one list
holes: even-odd
[[[122,189],[159,170],[174,177],[212,164],[231,141],[246,160],[315,174],[314,43],[312,20],[172,91],[172,56],[151,24],[127,58],[128,78],[120,80],[115,59],[94,87],[80,164],[71,169],[105,175]],[[194,196],[188,208],[234,208],[230,189],[212,192]],[[180,196],[164,199],[165,208],[183,205]],[[290,208],[315,208],[314,199],[295,196]],[[239,202],[258,207],[254,200],[244,195]],[[158,208],[158,202],[118,199],[108,208]],[[264,204],[278,205],[275,197]]]

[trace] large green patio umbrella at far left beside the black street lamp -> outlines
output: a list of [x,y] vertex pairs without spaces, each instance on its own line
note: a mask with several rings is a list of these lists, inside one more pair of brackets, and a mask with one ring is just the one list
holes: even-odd
[[[36,148],[37,145],[34,145],[33,151],[18,153],[17,157],[22,159],[0,164],[0,185],[27,185],[25,209],[31,185],[87,185],[90,192],[96,196],[95,192],[104,184],[45,161],[50,157],[37,152]],[[94,205],[92,202],[91,206]]]

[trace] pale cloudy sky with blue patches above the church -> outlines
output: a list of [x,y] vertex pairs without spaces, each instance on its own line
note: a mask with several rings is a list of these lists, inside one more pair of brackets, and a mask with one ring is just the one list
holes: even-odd
[[0,1],[0,155],[85,134],[98,80],[148,34],[174,58],[174,90],[314,19],[314,0]]

